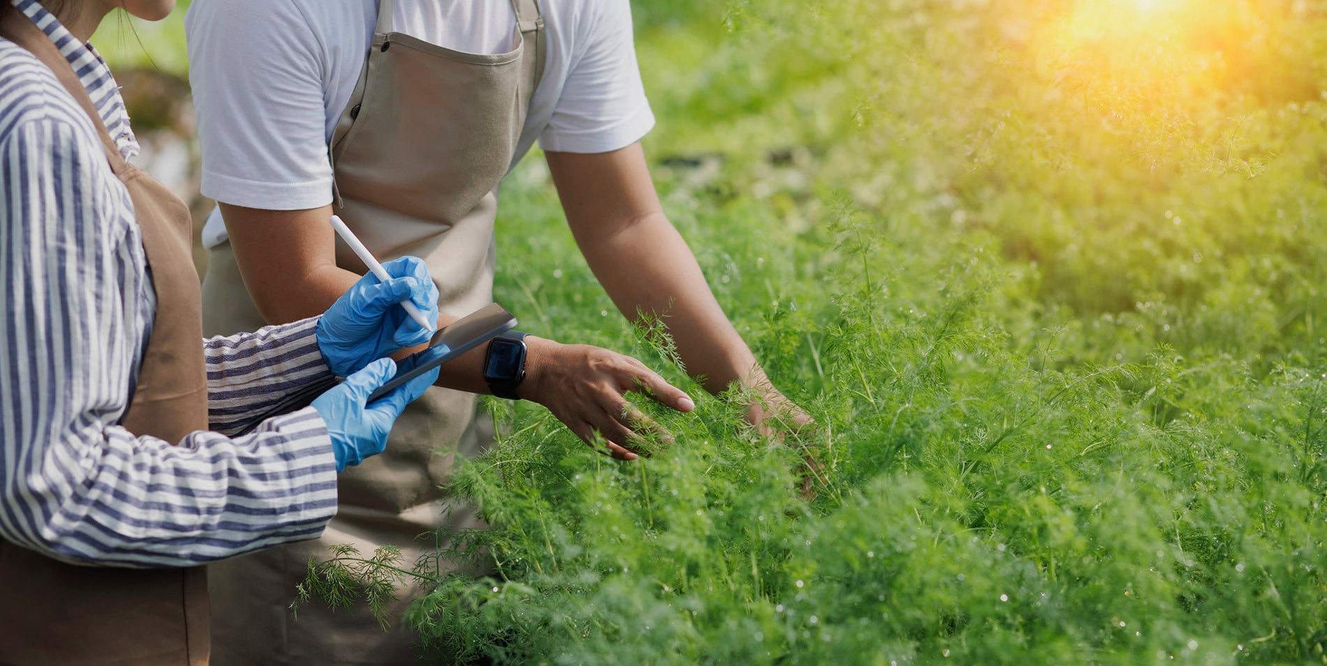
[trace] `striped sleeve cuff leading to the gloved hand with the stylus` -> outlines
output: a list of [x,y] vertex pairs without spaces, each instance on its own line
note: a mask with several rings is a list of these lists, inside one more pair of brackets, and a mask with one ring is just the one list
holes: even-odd
[[317,322],[311,317],[206,341],[212,430],[239,433],[283,397],[332,379],[318,349]]

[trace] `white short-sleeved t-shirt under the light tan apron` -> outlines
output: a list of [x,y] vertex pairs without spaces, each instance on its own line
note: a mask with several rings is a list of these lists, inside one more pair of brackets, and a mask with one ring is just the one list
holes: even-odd
[[[541,0],[544,76],[512,166],[544,150],[608,153],[654,126],[628,0]],[[194,0],[184,17],[202,191],[234,206],[332,202],[328,142],[373,42],[377,0]],[[515,48],[508,0],[395,0],[393,29],[471,53]],[[226,240],[214,211],[203,244]]]

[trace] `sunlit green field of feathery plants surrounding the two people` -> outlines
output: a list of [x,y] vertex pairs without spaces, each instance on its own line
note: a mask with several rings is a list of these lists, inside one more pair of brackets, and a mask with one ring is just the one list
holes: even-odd
[[[94,41],[206,211],[183,11]],[[515,663],[1327,662],[1327,3],[633,11],[665,208],[820,427],[780,444],[702,395],[618,466],[494,402],[510,435],[454,491],[502,568],[434,581],[425,637]],[[537,154],[499,263],[529,330],[701,393],[614,314]]]

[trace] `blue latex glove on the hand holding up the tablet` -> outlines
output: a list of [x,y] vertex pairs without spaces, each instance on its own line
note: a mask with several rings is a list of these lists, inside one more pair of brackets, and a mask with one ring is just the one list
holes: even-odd
[[332,436],[336,471],[345,471],[348,466],[381,454],[401,410],[438,379],[435,367],[365,406],[369,394],[395,374],[397,364],[380,358],[313,401],[312,407],[322,417]]

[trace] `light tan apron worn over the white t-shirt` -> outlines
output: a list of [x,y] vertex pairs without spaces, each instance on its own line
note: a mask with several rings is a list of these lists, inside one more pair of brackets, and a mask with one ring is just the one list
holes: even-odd
[[[373,45],[332,137],[336,212],[380,259],[422,257],[438,283],[439,309],[463,316],[492,302],[496,187],[506,175],[543,74],[543,19],[535,0],[512,0],[510,53],[474,54],[393,32],[382,0]],[[332,228],[328,227],[328,233]],[[337,264],[365,272],[337,241]],[[265,324],[252,305],[231,245],[212,251],[203,281],[204,329],[231,333]],[[483,527],[468,507],[447,507],[439,484],[456,448],[479,455],[492,440],[471,394],[430,389],[397,421],[386,452],[340,476],[340,509],[317,541],[276,547],[211,566],[214,661],[231,665],[414,663],[414,634],[393,610],[391,634],[366,604],[288,609],[309,556],[332,544],[401,547],[406,566],[437,527]],[[407,590],[406,594],[413,590]]]

